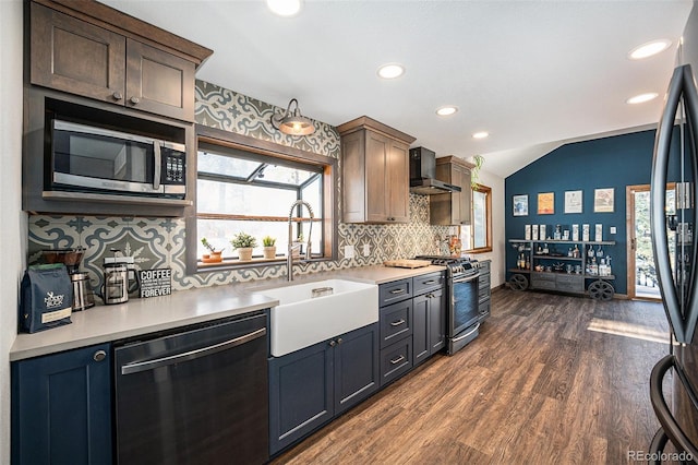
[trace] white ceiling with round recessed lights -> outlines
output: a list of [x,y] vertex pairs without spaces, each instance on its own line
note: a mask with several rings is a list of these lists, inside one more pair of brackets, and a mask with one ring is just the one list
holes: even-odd
[[[690,0],[320,1],[296,17],[263,0],[103,0],[214,50],[197,78],[338,126],[366,115],[437,156],[481,154],[506,177],[565,141],[653,124]],[[670,50],[627,53],[652,39]],[[378,65],[402,63],[395,81]],[[437,107],[456,105],[449,118]],[[477,131],[490,138],[473,140]]]

